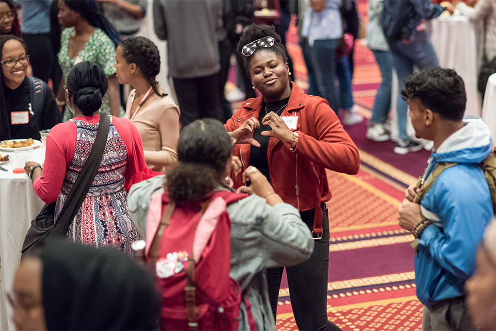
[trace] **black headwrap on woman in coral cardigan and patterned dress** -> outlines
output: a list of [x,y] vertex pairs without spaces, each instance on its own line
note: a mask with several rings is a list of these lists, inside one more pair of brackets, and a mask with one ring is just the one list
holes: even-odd
[[69,71],[67,88],[74,95],[77,108],[89,116],[102,106],[102,98],[107,92],[107,76],[96,62],[82,61]]

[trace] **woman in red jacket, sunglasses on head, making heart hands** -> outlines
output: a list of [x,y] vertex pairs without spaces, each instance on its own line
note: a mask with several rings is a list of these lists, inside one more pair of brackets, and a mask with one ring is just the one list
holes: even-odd
[[[238,43],[244,67],[261,97],[241,104],[225,127],[236,138],[233,149],[246,169],[258,168],[274,191],[297,207],[313,231],[311,258],[286,268],[291,303],[300,330],[339,330],[327,319],[329,220],[331,198],[326,169],[355,174],[358,151],[336,114],[321,97],[290,82],[286,51],[273,26],[250,25]],[[239,143],[241,143],[239,145]],[[244,144],[243,144],[244,143]],[[234,186],[244,185],[240,175]],[[267,271],[274,317],[283,268]]]

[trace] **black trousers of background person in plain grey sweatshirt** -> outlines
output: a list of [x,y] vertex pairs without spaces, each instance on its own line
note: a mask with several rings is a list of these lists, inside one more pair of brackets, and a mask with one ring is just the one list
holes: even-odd
[[222,121],[219,102],[219,73],[197,78],[174,78],[174,90],[179,103],[179,121],[184,128],[200,118]]

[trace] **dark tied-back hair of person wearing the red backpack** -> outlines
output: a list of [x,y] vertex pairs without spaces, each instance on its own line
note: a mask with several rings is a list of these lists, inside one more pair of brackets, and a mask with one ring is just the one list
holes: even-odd
[[178,164],[166,174],[169,197],[175,203],[197,203],[222,182],[232,143],[224,125],[212,118],[184,127],[177,141]]

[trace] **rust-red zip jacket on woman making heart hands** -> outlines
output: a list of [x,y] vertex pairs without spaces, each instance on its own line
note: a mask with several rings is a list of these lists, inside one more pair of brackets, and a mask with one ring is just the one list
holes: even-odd
[[[300,211],[316,208],[314,231],[322,232],[320,203],[331,198],[326,168],[356,174],[360,165],[358,150],[344,131],[328,102],[292,84],[288,106],[281,116],[298,116],[298,144],[290,151],[285,144],[271,137],[267,150],[269,173],[274,191]],[[225,128],[234,131],[251,117],[259,118],[262,97],[248,99],[227,121]],[[249,144],[238,144],[233,155],[241,159],[243,170],[250,164]],[[241,171],[242,172],[242,171]],[[233,176],[234,186],[243,185],[241,172]]]

